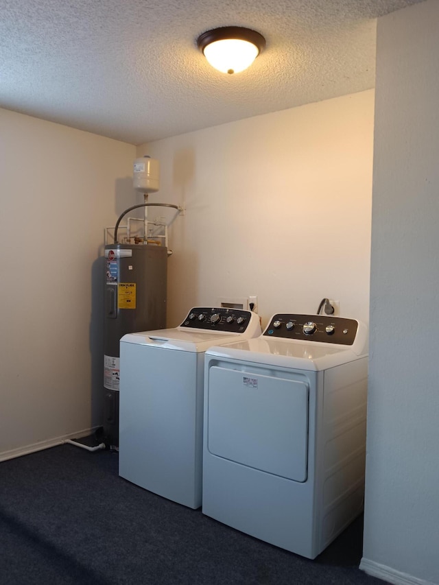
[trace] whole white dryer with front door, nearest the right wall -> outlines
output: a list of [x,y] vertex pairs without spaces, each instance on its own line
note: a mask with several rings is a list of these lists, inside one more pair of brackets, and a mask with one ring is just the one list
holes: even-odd
[[205,355],[202,512],[307,558],[363,509],[367,327],[278,313]]

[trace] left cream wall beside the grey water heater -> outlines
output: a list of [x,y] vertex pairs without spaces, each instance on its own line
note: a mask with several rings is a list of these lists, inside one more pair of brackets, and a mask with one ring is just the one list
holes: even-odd
[[133,145],[0,110],[0,459],[102,424],[104,226]]

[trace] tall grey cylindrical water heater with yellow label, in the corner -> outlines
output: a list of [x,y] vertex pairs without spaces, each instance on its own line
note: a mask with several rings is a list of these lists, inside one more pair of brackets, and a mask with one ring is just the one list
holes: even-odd
[[104,440],[119,445],[119,340],[126,333],[165,329],[167,248],[105,246]]

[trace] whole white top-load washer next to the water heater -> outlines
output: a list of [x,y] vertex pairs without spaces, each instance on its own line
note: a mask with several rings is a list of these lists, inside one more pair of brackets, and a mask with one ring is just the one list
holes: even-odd
[[261,335],[252,311],[195,307],[120,342],[119,475],[189,508],[202,497],[204,353]]

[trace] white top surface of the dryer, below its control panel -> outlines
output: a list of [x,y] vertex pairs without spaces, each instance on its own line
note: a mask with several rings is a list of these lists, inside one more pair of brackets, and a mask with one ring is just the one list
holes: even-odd
[[314,371],[326,370],[358,359],[358,356],[346,347],[289,342],[263,336],[244,339],[221,347],[212,346],[206,351],[206,355]]

